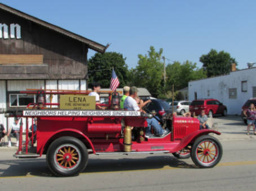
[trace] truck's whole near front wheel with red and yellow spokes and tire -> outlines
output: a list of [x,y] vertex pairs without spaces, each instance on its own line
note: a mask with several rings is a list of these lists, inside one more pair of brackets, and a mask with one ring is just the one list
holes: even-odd
[[204,135],[196,139],[191,151],[193,162],[199,167],[213,167],[222,158],[222,145],[219,140]]

